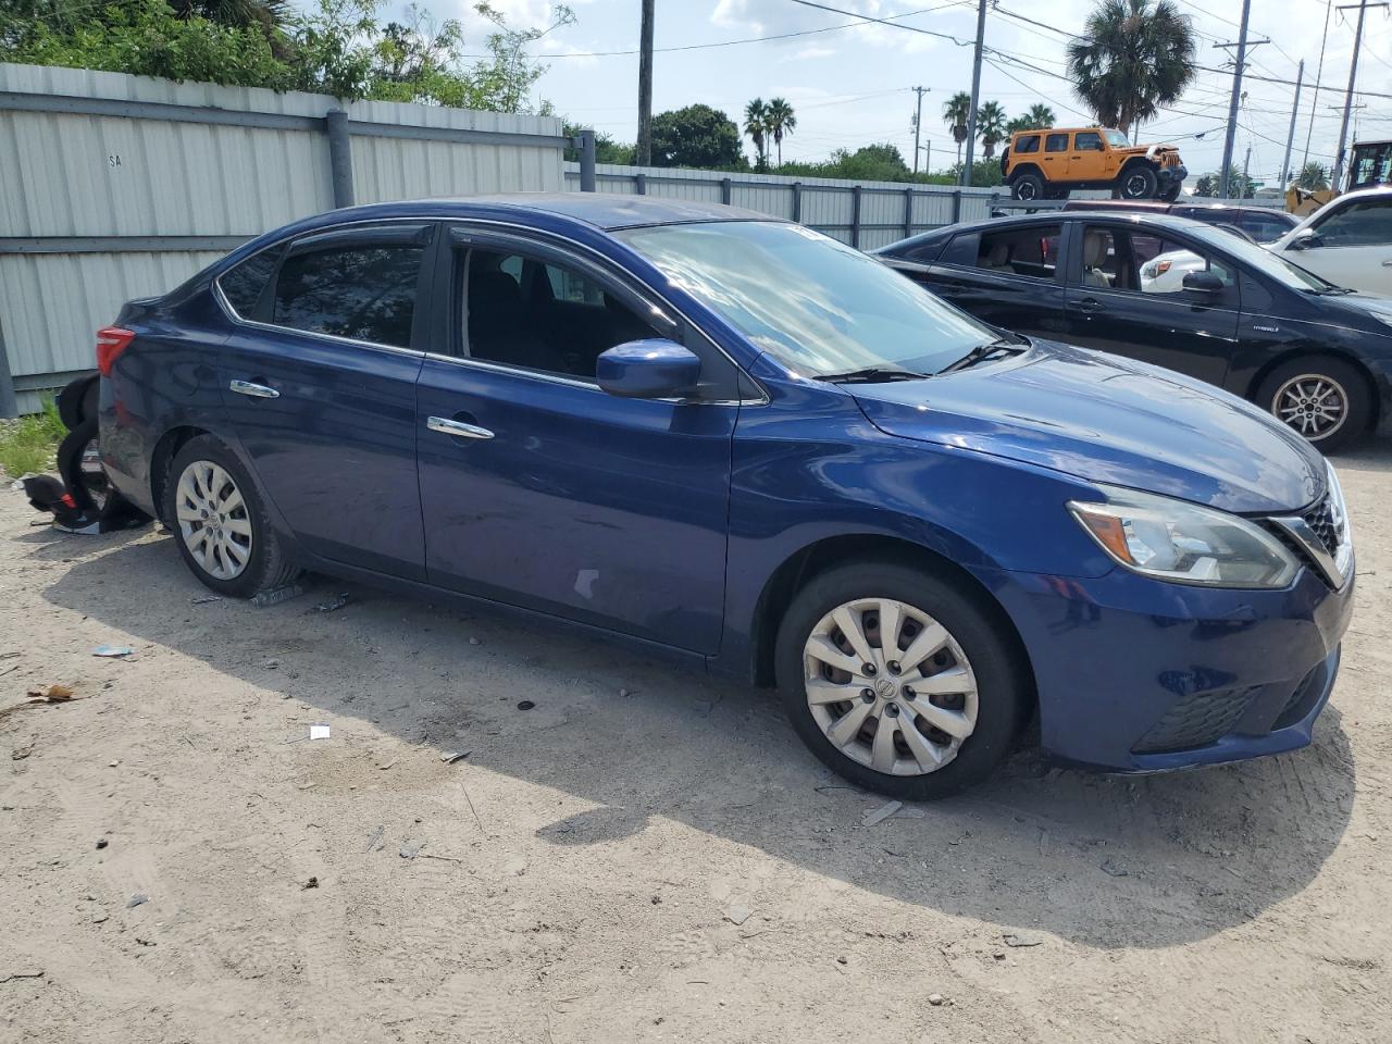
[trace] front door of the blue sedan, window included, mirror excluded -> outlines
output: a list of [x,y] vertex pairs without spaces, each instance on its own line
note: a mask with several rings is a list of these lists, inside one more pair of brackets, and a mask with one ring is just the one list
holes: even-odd
[[[734,366],[599,262],[529,237],[454,237],[436,283],[451,322],[416,418],[430,580],[717,651]],[[702,355],[709,401],[600,390],[600,352],[658,335]]]

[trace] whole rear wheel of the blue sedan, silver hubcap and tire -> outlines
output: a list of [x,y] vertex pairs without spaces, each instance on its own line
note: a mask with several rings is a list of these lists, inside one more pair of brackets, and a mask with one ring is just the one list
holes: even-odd
[[184,562],[219,594],[251,597],[299,572],[285,560],[252,477],[213,436],[191,438],[175,454],[164,521]]

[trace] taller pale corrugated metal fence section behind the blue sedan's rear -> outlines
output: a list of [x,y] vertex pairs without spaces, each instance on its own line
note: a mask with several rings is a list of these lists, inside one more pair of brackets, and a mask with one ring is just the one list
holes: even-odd
[[561,191],[553,117],[0,64],[0,416],[239,242],[387,199]]

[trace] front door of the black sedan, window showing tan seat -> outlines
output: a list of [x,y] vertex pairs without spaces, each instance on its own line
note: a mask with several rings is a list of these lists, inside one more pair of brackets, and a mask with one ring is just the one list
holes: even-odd
[[[1237,274],[1231,263],[1171,232],[1080,223],[1068,273],[1068,340],[1222,384],[1236,345]],[[1204,269],[1221,294],[1183,288]]]

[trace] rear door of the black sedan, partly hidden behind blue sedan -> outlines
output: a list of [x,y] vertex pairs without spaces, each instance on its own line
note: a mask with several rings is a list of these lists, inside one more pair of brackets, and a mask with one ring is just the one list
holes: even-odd
[[905,273],[992,326],[1059,337],[1063,316],[1062,224],[991,224],[959,232],[920,271]]

